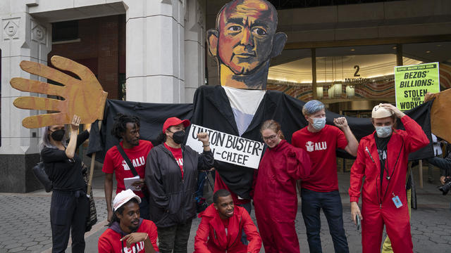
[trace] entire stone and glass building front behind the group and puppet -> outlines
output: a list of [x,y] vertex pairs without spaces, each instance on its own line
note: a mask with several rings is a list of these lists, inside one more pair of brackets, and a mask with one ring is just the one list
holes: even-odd
[[[271,0],[270,0],[271,1]],[[22,60],[71,58],[96,74],[111,99],[191,103],[202,84],[218,84],[207,56],[206,30],[228,0],[0,1],[0,192],[39,188],[40,133],[21,120],[42,112],[13,106],[13,77],[47,79],[20,70]],[[278,30],[288,35],[273,58],[268,89],[330,110],[368,117],[373,104],[394,102],[393,67],[440,63],[440,86],[451,86],[451,1],[277,1]]]

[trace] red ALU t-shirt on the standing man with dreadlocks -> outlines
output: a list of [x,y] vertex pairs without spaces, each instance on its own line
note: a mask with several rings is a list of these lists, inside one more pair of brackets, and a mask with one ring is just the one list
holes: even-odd
[[[123,147],[122,141],[120,144],[121,147]],[[140,176],[140,179],[144,179],[147,155],[149,155],[149,151],[152,148],[154,148],[154,145],[152,145],[150,141],[144,140],[140,140],[140,145],[133,148],[124,148],[125,154],[132,162],[133,167],[135,167],[137,174]],[[125,190],[124,179],[134,176],[116,146],[113,146],[113,148],[106,151],[104,167],[102,167],[101,171],[110,174],[114,172],[116,174],[116,181],[118,182],[116,194],[121,193],[122,190]],[[135,194],[140,197],[144,197],[142,191],[135,191]]]

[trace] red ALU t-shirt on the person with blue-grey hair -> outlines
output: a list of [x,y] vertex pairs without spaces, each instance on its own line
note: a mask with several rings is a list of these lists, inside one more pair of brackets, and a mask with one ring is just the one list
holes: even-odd
[[337,148],[346,148],[345,134],[336,126],[326,124],[321,131],[312,133],[307,129],[295,131],[291,138],[292,145],[307,151],[311,161],[311,172],[303,180],[302,188],[317,192],[338,190]]

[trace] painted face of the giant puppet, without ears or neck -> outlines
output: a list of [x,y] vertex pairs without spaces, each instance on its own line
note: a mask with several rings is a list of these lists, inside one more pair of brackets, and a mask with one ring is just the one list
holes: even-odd
[[235,74],[249,74],[269,60],[277,13],[265,1],[235,1],[219,17],[218,56]]

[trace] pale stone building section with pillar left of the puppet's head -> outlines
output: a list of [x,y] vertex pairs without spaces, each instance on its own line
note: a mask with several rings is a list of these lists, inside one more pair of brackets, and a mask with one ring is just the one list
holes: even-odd
[[[47,79],[20,70],[22,60],[48,65],[58,54],[78,61],[109,98],[121,98],[125,82],[126,100],[190,103],[204,84],[204,6],[202,0],[0,1],[0,192],[40,188],[31,172],[39,162],[39,129],[25,129],[21,121],[42,112],[20,110],[13,100],[45,95],[12,89],[9,81]],[[78,20],[81,38],[52,41],[52,24],[71,20]]]

